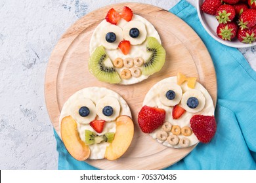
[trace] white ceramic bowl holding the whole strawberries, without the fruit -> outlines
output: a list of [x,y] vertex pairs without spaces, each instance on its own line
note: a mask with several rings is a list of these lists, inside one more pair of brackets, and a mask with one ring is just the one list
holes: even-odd
[[202,23],[203,27],[205,28],[207,33],[209,33],[209,35],[211,35],[211,37],[213,37],[213,39],[221,42],[222,44],[224,44],[226,46],[231,46],[234,48],[246,48],[246,47],[251,47],[251,46],[256,45],[256,42],[253,42],[252,44],[245,44],[245,43],[238,41],[238,39],[234,39],[232,41],[224,41],[223,39],[219,38],[216,33],[219,23],[216,20],[215,16],[213,16],[211,14],[206,14],[205,12],[202,12],[200,7],[201,7],[203,1],[204,0],[196,0],[196,8],[198,9],[198,16],[199,16],[200,22]]

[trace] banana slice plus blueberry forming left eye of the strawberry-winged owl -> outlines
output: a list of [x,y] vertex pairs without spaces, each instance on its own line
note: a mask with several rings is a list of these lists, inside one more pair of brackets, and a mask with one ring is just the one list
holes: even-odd
[[159,90],[159,99],[163,105],[175,106],[181,101],[182,89],[175,82],[163,84]]

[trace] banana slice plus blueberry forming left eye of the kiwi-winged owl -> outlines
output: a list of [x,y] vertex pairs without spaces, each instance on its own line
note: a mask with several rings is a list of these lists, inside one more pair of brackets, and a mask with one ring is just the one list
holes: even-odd
[[100,32],[100,43],[107,50],[116,50],[119,42],[123,40],[123,29],[117,25],[102,27]]

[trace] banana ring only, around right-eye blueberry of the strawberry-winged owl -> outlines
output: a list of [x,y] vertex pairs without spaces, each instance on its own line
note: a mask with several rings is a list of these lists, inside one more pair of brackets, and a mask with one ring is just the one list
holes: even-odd
[[[187,101],[190,97],[196,97],[196,99],[198,99],[198,107],[196,107],[196,108],[188,107]],[[186,111],[196,113],[203,109],[203,107],[205,105],[205,97],[204,97],[203,93],[200,92],[200,90],[191,89],[191,90],[186,91],[183,94],[182,99],[181,99],[181,105]]]

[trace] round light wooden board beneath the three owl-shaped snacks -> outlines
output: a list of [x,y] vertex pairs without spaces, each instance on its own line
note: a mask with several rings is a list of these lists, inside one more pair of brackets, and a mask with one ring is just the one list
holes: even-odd
[[[160,34],[165,48],[166,62],[159,73],[139,84],[121,86],[99,82],[88,71],[89,42],[91,35],[112,7],[119,12],[123,6],[150,21]],[[88,86],[102,86],[119,93],[129,104],[135,124],[135,135],[130,148],[116,161],[87,160],[99,169],[163,169],[184,158],[193,148],[174,149],[162,146],[149,135],[142,133],[137,124],[137,114],[144,95],[156,82],[177,72],[196,76],[217,99],[215,69],[209,52],[198,35],[180,18],[152,5],[121,3],[100,8],[75,22],[56,44],[45,76],[45,100],[54,129],[60,134],[58,117],[65,101],[77,90]]]

